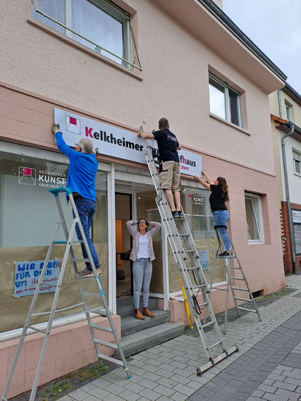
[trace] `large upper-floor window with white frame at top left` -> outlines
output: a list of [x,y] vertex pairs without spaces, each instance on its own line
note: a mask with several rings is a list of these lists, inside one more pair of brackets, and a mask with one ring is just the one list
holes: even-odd
[[124,61],[130,61],[130,15],[111,1],[36,0],[36,4],[41,13],[35,12],[32,6],[34,18],[116,63],[130,67]]

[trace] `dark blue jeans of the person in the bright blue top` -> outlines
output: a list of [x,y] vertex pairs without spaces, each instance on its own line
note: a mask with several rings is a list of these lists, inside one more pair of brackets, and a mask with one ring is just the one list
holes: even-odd
[[[96,203],[92,199],[85,199],[85,198],[74,199],[74,202],[75,202],[76,209],[78,209],[78,215],[80,216],[82,228],[83,228],[85,236],[87,238],[87,243],[90,247],[90,252],[92,254],[92,259],[94,261],[95,268],[97,268],[99,266],[97,252],[96,252],[94,244],[90,238],[90,233],[89,233],[89,230],[92,226],[93,216],[96,211]],[[73,218],[74,217],[75,216],[73,214]],[[80,235],[80,229],[78,228],[78,224],[76,224],[76,226],[75,226],[75,231],[76,231],[76,235],[78,235],[78,240],[82,240],[82,236]],[[89,259],[86,249],[85,249],[85,245],[84,244],[80,244],[80,245],[82,247],[82,257],[84,257],[84,259]],[[86,263],[87,269],[92,270],[90,262],[87,261],[85,263]]]

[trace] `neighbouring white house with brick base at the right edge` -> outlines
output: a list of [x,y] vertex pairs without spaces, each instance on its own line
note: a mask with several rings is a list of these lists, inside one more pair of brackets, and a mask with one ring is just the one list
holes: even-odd
[[284,271],[301,271],[301,96],[293,87],[269,96]]

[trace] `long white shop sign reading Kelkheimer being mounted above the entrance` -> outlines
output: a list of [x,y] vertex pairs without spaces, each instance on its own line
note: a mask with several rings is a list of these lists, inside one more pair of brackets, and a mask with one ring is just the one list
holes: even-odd
[[[143,140],[135,132],[99,123],[61,109],[54,109],[54,121],[60,125],[63,139],[71,147],[74,147],[80,138],[87,137],[93,142],[93,147],[98,147],[100,154],[146,164]],[[202,156],[186,150],[180,150],[178,154],[181,173],[199,175],[202,170]]]

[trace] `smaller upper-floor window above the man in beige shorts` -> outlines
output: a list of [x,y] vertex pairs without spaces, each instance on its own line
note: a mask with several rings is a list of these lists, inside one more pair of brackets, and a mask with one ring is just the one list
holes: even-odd
[[210,112],[230,123],[242,126],[240,94],[226,82],[209,75]]

